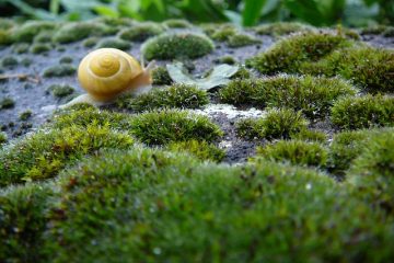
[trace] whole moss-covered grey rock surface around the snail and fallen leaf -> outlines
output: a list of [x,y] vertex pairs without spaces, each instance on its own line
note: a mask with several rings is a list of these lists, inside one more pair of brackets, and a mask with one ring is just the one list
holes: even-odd
[[[386,28],[356,30],[358,41],[339,27],[103,19],[1,32],[2,75],[28,76],[0,81],[0,262],[393,259]],[[140,59],[161,33],[165,56],[148,52],[153,90],[54,115],[83,92],[76,68],[88,52],[117,45]],[[207,34],[204,53],[195,33]],[[173,59],[195,77],[221,62],[254,68],[207,92],[174,84]]]

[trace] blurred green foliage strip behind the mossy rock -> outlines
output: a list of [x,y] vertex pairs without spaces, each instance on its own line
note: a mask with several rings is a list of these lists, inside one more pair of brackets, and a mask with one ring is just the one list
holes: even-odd
[[301,21],[317,26],[394,24],[394,0],[0,0],[0,15],[79,21],[94,16],[139,21],[187,19],[232,22]]

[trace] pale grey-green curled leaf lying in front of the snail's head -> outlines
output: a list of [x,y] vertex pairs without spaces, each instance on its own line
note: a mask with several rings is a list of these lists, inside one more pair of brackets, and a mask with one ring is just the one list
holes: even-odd
[[210,90],[218,85],[229,83],[230,77],[239,71],[239,66],[230,66],[227,64],[219,65],[213,68],[212,72],[202,79],[194,79],[185,72],[183,64],[177,62],[166,65],[167,71],[172,80],[176,83],[195,84],[201,90]]

